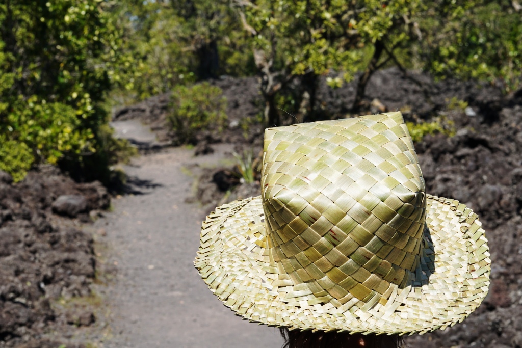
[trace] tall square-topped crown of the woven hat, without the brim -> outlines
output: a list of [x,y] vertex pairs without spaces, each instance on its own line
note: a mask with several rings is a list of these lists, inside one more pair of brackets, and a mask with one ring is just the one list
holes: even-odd
[[419,266],[425,185],[400,112],[266,129],[262,201],[280,286],[366,302]]

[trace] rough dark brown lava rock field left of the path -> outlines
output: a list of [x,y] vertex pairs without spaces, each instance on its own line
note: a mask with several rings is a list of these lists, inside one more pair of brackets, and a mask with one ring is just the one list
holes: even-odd
[[0,172],[0,347],[77,346],[67,343],[74,331],[96,320],[75,306],[92,296],[97,272],[80,227],[109,205],[100,183],[77,184],[55,167],[17,184]]

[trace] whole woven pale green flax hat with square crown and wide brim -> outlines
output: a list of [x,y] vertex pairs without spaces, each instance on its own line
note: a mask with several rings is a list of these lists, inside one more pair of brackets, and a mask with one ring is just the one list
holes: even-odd
[[261,185],[207,217],[195,261],[244,319],[422,334],[488,293],[477,214],[425,193],[400,112],[266,129]]

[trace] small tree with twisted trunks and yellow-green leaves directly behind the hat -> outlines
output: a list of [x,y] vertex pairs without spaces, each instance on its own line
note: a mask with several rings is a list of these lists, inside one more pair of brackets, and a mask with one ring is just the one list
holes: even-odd
[[[303,110],[313,113],[318,76],[337,71],[338,76],[330,76],[328,85],[338,88],[362,69],[370,69],[370,76],[384,66],[394,50],[410,42],[413,22],[409,18],[417,14],[419,4],[420,0],[239,3],[244,27],[254,41],[255,62],[263,76],[266,124],[280,124],[275,95],[288,94],[285,90],[293,88],[294,80],[301,79],[298,93],[310,95],[309,107]],[[367,78],[362,85],[366,82]],[[357,93],[363,91],[358,89]]]

